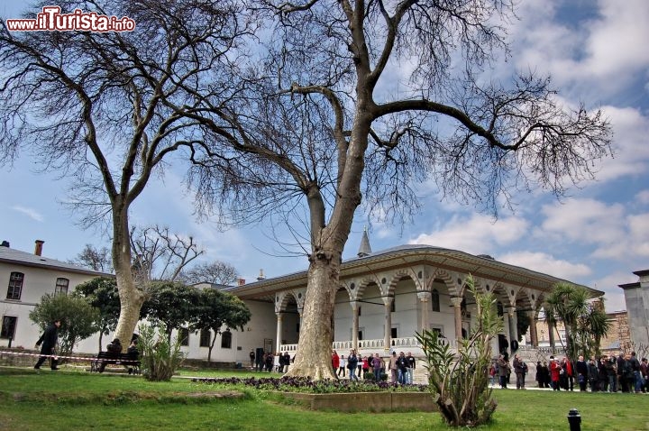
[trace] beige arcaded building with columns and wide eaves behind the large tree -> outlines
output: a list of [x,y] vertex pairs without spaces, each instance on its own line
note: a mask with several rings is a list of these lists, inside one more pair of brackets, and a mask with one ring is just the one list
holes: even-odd
[[[565,282],[549,274],[496,261],[486,255],[429,245],[403,245],[371,252],[366,235],[357,258],[343,261],[334,304],[334,349],[361,354],[390,349],[420,352],[416,332],[438,331],[452,345],[475,324],[475,300],[466,289],[469,275],[480,291],[498,298],[505,327],[494,351],[516,337],[516,318],[529,320],[530,347],[538,345],[538,311],[553,286]],[[583,286],[592,298],[603,292]],[[272,307],[275,351],[296,353],[306,295],[306,271],[261,280],[227,291]],[[518,312],[518,313],[517,313]],[[522,312],[522,313],[520,313]],[[268,326],[273,325],[267,322]]]

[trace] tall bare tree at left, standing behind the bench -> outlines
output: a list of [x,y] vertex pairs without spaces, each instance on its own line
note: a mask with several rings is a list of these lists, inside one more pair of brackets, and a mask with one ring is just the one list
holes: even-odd
[[[43,2],[35,12],[41,12]],[[237,1],[62,0],[128,16],[134,32],[9,32],[0,22],[0,161],[28,149],[43,170],[73,180],[84,222],[108,221],[130,339],[144,294],[133,283],[129,209],[165,160],[205,139],[193,115],[236,93],[237,41],[250,27]],[[32,18],[35,13],[32,12]],[[215,120],[211,132],[217,132]]]

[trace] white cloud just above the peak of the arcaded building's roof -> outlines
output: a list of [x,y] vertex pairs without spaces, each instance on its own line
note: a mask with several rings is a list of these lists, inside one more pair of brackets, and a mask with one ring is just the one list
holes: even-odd
[[430,244],[474,254],[492,254],[496,245],[514,243],[521,238],[528,225],[525,219],[516,216],[496,222],[488,216],[473,215],[469,219],[455,216],[442,230],[420,234],[410,243]]

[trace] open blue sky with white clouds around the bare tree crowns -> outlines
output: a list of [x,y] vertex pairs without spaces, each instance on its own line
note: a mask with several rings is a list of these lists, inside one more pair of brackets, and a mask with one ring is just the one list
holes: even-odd
[[[497,65],[550,73],[566,105],[601,108],[610,120],[615,157],[595,168],[597,179],[570,188],[557,199],[541,190],[515,195],[513,210],[498,219],[472,206],[424,194],[423,210],[409,225],[370,223],[372,250],[425,243],[551,274],[605,292],[609,312],[626,309],[617,285],[649,270],[649,2],[646,0],[527,0],[509,29],[512,56]],[[8,0],[0,16],[18,17],[26,1]],[[81,215],[62,206],[65,179],[38,172],[28,153],[0,166],[0,240],[68,261],[87,243],[108,245],[99,229],[84,230]],[[304,256],[288,255],[273,239],[270,225],[219,232],[197,220],[182,178],[168,171],[139,197],[132,224],[167,225],[191,235],[205,249],[203,261],[226,261],[248,282],[263,270],[267,278],[304,271]],[[356,255],[367,216],[357,212],[344,258]],[[280,241],[293,240],[279,227]]]

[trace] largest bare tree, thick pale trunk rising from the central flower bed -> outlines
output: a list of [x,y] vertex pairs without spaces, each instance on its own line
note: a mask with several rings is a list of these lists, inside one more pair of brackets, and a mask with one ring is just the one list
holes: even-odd
[[599,111],[562,106],[549,78],[489,77],[490,61],[507,54],[513,2],[261,4],[268,40],[249,72],[261,78],[231,100],[228,133],[197,119],[215,133],[192,155],[192,179],[202,209],[230,223],[306,208],[308,284],[289,374],[334,378],[328,323],[361,203],[407,220],[425,179],[494,213],[497,199],[533,185],[561,195],[593,177],[610,127]]

